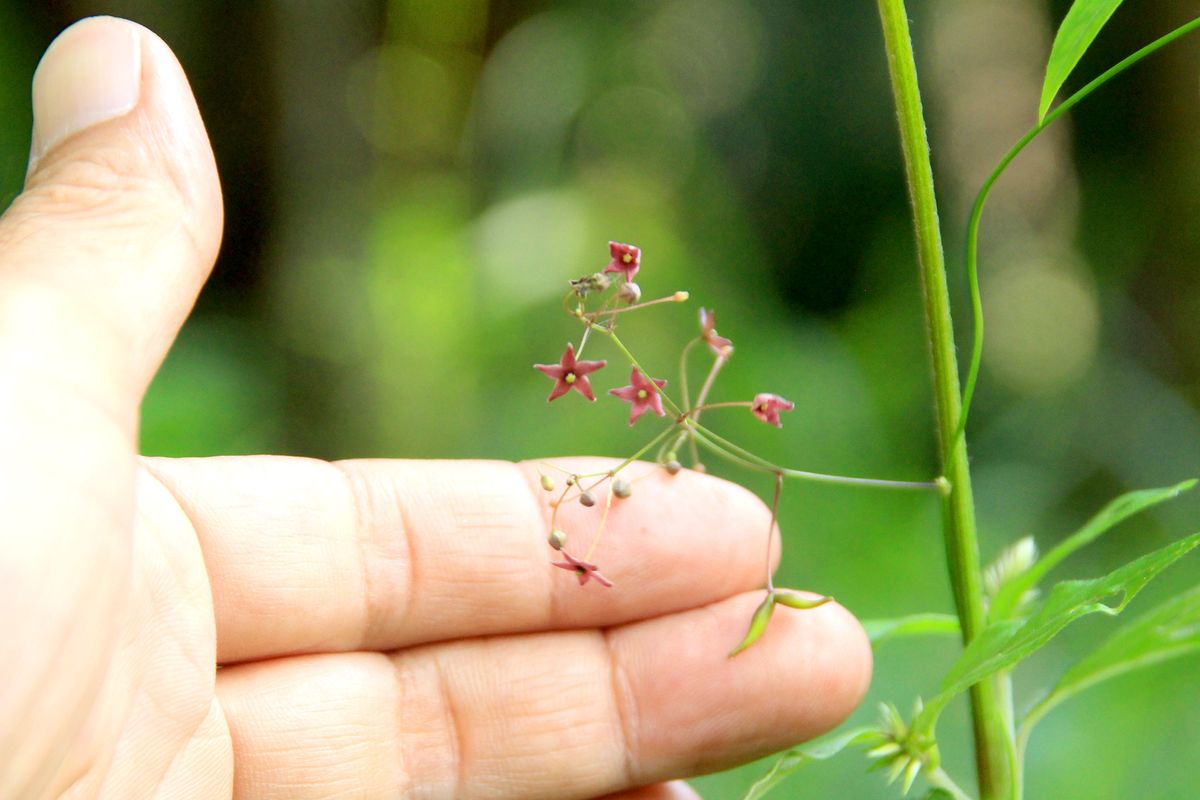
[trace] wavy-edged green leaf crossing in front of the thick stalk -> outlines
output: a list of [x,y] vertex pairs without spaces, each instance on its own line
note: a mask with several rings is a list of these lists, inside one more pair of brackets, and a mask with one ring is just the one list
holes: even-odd
[[[1063,581],[1051,590],[1045,604],[1030,619],[992,622],[967,645],[950,667],[942,681],[941,692],[922,712],[919,724],[931,727],[955,694],[992,673],[1027,658],[1080,616],[1097,612],[1120,614],[1142,587],[1196,545],[1200,545],[1200,534],[1142,555],[1103,578]],[[1116,594],[1121,595],[1121,602],[1116,606],[1100,602]]]

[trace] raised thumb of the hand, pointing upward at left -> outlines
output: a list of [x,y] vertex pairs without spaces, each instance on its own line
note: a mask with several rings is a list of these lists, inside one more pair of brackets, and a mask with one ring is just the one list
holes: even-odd
[[204,124],[162,40],[110,17],[59,35],[32,95],[25,191],[0,218],[0,359],[19,347],[132,411],[220,246]]

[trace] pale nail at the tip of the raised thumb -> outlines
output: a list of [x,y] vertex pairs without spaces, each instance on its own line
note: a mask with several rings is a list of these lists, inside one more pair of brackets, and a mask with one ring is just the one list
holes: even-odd
[[128,114],[140,89],[142,44],[133,25],[96,17],[59,34],[34,73],[31,162],[84,128]]

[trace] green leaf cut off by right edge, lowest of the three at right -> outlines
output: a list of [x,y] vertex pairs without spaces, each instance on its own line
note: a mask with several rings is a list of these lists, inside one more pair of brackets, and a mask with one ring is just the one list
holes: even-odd
[[1176,595],[1121,628],[1068,669],[1026,720],[1032,724],[1068,697],[1134,669],[1200,650],[1200,587]]

